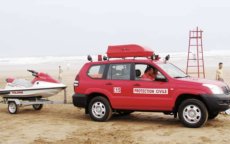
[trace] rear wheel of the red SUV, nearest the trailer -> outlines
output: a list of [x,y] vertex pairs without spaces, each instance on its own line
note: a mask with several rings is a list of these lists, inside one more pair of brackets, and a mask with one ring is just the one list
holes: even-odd
[[89,115],[94,121],[107,121],[112,116],[112,108],[109,101],[101,96],[93,98],[88,105]]

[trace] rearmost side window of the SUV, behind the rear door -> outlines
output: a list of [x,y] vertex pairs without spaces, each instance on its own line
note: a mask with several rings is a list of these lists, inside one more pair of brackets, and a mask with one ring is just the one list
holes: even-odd
[[88,76],[94,79],[102,79],[105,65],[93,65],[89,68]]

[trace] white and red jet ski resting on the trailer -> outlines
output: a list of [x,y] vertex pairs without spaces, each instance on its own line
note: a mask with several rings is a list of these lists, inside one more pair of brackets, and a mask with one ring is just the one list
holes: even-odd
[[55,80],[43,72],[28,70],[34,76],[32,81],[25,79],[6,79],[6,86],[0,89],[3,98],[47,98],[53,96],[66,88],[66,85]]

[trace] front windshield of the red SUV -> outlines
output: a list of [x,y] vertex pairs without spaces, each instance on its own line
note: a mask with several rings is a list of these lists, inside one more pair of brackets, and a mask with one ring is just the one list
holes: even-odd
[[168,75],[174,78],[184,78],[188,77],[182,70],[170,63],[158,64]]

